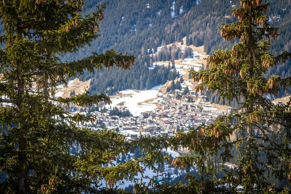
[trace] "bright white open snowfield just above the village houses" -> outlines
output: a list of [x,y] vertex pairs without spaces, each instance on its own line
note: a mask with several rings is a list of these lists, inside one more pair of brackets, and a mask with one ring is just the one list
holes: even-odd
[[[146,112],[146,111],[153,111],[154,109],[157,108],[155,104],[143,103],[142,105],[138,105],[138,103],[157,97],[157,94],[159,93],[157,89],[161,87],[162,85],[159,85],[159,86],[153,87],[150,90],[145,90],[145,91],[123,90],[120,93],[126,94],[128,96],[118,97],[118,99],[111,98],[112,104],[107,105],[107,108],[109,108],[110,106],[127,107],[127,109],[129,109],[130,113],[133,116],[139,116],[141,115],[141,113]],[[121,102],[124,102],[124,105],[117,106],[117,104]]]

